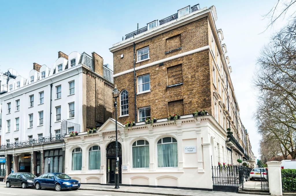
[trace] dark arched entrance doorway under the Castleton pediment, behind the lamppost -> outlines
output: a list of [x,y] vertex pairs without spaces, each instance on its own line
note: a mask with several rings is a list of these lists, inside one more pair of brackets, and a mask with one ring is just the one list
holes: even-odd
[[[122,150],[121,144],[118,142],[118,172],[119,183],[121,184],[121,164],[122,164]],[[106,164],[107,164],[107,184],[115,184],[115,167],[116,167],[116,145],[115,142],[108,144],[106,148]]]

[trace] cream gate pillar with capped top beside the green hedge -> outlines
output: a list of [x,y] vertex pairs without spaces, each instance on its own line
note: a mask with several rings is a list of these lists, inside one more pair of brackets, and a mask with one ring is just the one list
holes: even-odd
[[283,195],[281,184],[281,162],[269,161],[266,163],[268,168],[268,184],[271,195]]

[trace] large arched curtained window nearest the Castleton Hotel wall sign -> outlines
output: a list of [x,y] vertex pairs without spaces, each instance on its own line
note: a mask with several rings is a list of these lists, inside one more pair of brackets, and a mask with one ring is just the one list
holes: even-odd
[[158,167],[177,167],[177,140],[172,137],[161,138],[157,142]]

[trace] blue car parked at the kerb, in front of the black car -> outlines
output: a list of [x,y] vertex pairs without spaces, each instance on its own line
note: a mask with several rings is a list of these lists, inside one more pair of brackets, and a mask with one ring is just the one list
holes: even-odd
[[77,190],[80,187],[78,180],[71,179],[67,174],[63,173],[46,173],[34,178],[33,182],[35,188],[40,190],[41,188],[50,188],[60,191],[62,189],[74,189]]

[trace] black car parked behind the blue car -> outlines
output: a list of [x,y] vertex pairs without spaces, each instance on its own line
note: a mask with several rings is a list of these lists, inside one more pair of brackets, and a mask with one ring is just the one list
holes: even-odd
[[36,176],[32,173],[18,172],[10,174],[6,179],[6,187],[11,186],[22,187],[23,189],[27,187],[33,187],[33,180]]

